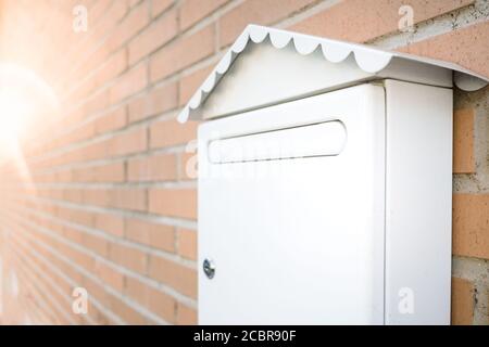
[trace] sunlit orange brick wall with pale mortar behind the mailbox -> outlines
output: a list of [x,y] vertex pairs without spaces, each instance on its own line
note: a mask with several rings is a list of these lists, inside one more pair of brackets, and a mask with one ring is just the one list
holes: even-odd
[[[72,28],[77,4],[87,31]],[[3,323],[196,323],[196,125],[175,116],[248,23],[489,76],[485,0],[0,0],[0,13],[1,60],[59,100],[0,160]],[[489,89],[456,91],[454,110],[452,322],[488,324]]]

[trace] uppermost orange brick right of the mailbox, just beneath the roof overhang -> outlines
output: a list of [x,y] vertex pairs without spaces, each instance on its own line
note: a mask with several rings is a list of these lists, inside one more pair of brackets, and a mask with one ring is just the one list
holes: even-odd
[[453,172],[475,172],[473,108],[453,113]]

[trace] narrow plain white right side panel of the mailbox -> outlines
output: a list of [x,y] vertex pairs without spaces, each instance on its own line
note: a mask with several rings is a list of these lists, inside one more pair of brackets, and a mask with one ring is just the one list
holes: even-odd
[[386,81],[386,323],[449,324],[452,90]]

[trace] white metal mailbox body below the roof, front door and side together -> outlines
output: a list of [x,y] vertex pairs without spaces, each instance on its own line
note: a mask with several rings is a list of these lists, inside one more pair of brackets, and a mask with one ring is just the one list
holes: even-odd
[[416,95],[451,98],[365,83],[200,126],[200,323],[448,323],[451,155],[430,156],[451,110],[417,129],[394,110],[410,89],[414,114]]

